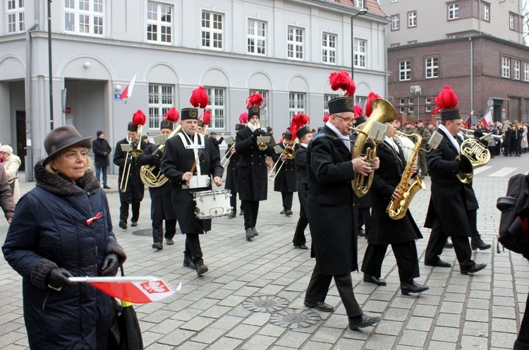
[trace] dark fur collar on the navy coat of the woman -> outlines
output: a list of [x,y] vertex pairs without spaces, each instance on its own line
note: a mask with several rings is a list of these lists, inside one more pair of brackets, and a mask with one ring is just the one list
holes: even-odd
[[97,182],[92,170],[86,171],[83,179],[79,180],[84,181],[85,186],[83,189],[73,183],[73,181],[68,181],[58,174],[51,174],[46,171],[42,165],[42,160],[35,164],[35,180],[37,181],[36,186],[41,187],[54,195],[83,195],[85,193],[93,195],[97,193],[97,191],[101,191],[99,182]]

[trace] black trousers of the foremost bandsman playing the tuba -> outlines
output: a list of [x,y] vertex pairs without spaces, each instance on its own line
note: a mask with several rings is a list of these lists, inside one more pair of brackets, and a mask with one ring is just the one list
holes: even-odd
[[312,277],[310,277],[305,299],[310,301],[325,301],[333,277],[348,317],[352,318],[362,315],[362,309],[360,309],[360,305],[358,305],[358,301],[356,301],[353,292],[351,274],[322,274],[320,273],[317,261],[316,265],[314,265],[314,270],[312,270]]

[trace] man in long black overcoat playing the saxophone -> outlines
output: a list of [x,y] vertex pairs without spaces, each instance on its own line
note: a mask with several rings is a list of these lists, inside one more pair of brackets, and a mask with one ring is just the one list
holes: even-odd
[[[375,171],[369,191],[372,225],[362,272],[364,272],[365,282],[385,286],[386,282],[380,277],[387,246],[391,244],[397,267],[399,267],[402,294],[421,293],[427,291],[428,287],[417,284],[413,279],[420,276],[415,239],[422,239],[422,234],[420,234],[410,210],[407,210],[406,215],[398,220],[392,219],[386,212],[391,200],[398,201],[403,195],[397,186],[401,182],[407,165],[404,153],[393,140],[396,131],[395,123],[386,124],[388,126],[387,136],[384,138],[384,142],[377,146],[380,167]],[[418,157],[418,152],[416,157]],[[417,167],[414,165],[408,170],[410,175],[415,174]]]

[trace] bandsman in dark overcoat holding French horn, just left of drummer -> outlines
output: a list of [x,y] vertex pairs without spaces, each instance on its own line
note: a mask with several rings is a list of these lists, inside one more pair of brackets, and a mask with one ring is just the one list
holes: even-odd
[[[160,135],[169,136],[173,132],[174,123],[164,120],[160,123]],[[138,156],[140,165],[152,166],[152,173],[159,174],[162,166],[162,152],[158,152],[158,145],[148,143],[145,152]],[[171,183],[167,181],[159,187],[149,187],[151,196],[151,220],[152,220],[152,248],[161,251],[164,248],[164,237],[168,246],[174,244],[173,238],[176,234],[176,212],[173,208]],[[165,220],[165,234],[164,234]]]

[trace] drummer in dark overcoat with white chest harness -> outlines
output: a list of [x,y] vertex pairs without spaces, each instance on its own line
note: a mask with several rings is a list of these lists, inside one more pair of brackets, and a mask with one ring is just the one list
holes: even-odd
[[[191,186],[192,178],[210,179],[217,186],[222,184],[224,168],[211,140],[197,132],[198,110],[184,108],[181,111],[182,132],[166,141],[162,157],[162,172],[171,181],[172,202],[182,234],[186,234],[186,251],[183,265],[202,276],[209,269],[202,258],[200,234],[211,230],[211,219],[197,219],[193,193],[212,189],[211,183]],[[196,173],[196,174],[195,174]]]

